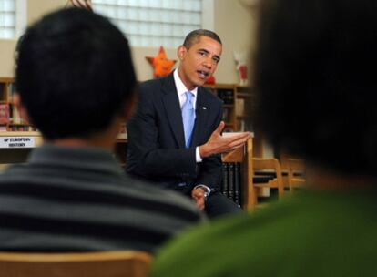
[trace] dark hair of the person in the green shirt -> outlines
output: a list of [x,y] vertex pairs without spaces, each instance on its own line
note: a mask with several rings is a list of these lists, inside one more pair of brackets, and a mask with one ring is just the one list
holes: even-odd
[[327,169],[376,176],[376,2],[261,4],[257,131]]

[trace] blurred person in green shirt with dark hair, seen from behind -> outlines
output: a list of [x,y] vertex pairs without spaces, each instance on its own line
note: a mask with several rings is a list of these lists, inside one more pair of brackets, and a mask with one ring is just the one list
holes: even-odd
[[191,230],[153,277],[377,276],[377,4],[260,1],[255,131],[307,163],[308,187]]

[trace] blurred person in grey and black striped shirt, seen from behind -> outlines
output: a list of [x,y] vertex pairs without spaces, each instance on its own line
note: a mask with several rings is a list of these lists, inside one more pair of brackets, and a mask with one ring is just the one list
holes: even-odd
[[1,251],[155,251],[201,221],[189,200],[127,177],[113,149],[134,106],[127,38],[68,8],[18,46],[15,105],[44,143],[0,175]]

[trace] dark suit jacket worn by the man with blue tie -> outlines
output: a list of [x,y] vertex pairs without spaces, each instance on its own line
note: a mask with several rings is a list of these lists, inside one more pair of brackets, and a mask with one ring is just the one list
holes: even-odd
[[[197,184],[218,190],[220,156],[197,163],[195,148],[204,144],[219,126],[221,101],[208,89],[199,87],[196,109],[191,147],[186,149],[173,74],[142,83],[138,87],[138,108],[127,123],[127,172],[183,193],[189,193]],[[189,186],[178,187],[181,182]]]

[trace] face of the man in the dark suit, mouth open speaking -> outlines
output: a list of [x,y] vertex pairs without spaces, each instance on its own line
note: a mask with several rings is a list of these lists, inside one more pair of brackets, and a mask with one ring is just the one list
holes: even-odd
[[178,75],[188,89],[203,86],[218,67],[222,46],[209,36],[200,36],[189,49],[179,46]]

